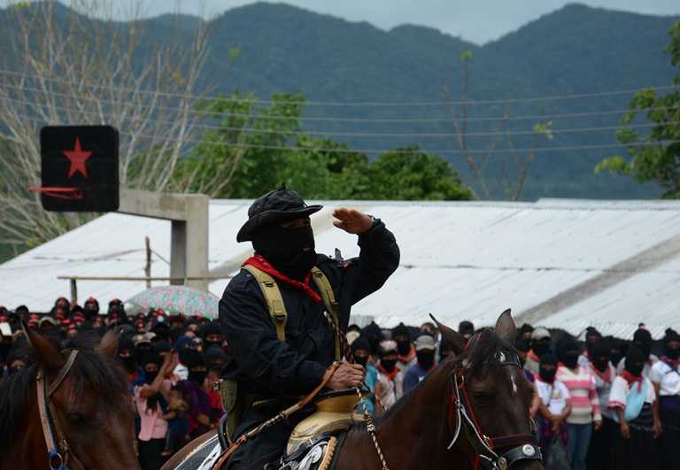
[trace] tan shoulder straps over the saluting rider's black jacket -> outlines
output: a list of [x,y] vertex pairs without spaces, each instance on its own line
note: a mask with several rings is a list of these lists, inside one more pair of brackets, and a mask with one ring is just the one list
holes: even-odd
[[[283,304],[283,297],[278,284],[271,275],[259,270],[255,266],[246,265],[243,266],[243,269],[247,270],[258,281],[259,289],[262,290],[262,295],[267,301],[269,316],[274,322],[274,328],[276,328],[276,336],[279,338],[279,341],[286,341],[288,312],[286,312],[286,306]],[[316,283],[316,287],[319,288],[319,291],[321,292],[323,303],[326,305],[326,310],[330,314],[333,322],[333,335],[336,343],[336,360],[339,361],[342,359],[343,354],[340,347],[340,316],[337,312],[336,295],[333,292],[330,281],[328,281],[328,277],[326,277],[326,274],[323,274],[321,269],[313,267],[312,278]]]

